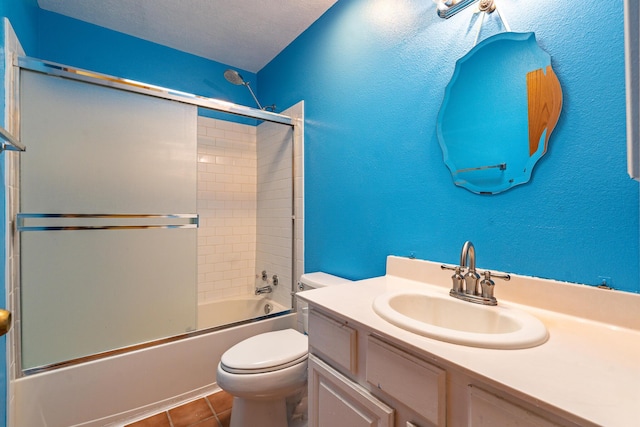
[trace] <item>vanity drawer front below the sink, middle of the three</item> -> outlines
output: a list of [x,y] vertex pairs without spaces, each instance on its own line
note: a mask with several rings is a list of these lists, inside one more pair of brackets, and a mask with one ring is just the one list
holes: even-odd
[[373,336],[366,379],[436,426],[446,425],[446,372]]

